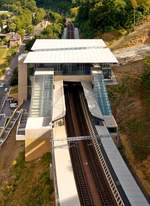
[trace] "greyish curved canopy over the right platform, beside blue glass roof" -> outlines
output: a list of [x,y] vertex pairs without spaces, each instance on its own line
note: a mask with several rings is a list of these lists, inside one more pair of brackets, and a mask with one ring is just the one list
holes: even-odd
[[83,87],[84,95],[85,95],[85,98],[87,100],[88,108],[89,108],[91,114],[94,117],[97,117],[99,119],[103,119],[101,110],[100,110],[100,108],[97,104],[97,101],[95,99],[95,96],[93,94],[91,83],[82,81],[81,85]]

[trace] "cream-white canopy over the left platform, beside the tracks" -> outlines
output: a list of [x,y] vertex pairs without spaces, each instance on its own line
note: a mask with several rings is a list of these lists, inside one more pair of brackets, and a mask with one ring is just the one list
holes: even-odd
[[53,90],[53,116],[52,120],[56,121],[63,118],[66,114],[66,105],[64,97],[63,81],[55,81]]

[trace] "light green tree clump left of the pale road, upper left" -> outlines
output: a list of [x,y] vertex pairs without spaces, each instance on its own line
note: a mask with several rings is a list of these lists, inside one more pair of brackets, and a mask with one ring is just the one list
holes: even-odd
[[[32,33],[33,25],[39,23],[46,16],[43,8],[36,6],[35,0],[2,0],[0,9],[7,10],[0,18],[0,25],[7,25],[6,32],[18,32],[22,36]],[[11,16],[10,16],[11,15]]]

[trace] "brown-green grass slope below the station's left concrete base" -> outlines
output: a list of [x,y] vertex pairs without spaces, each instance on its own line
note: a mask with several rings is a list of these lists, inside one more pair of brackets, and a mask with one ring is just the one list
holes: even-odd
[[1,206],[49,206],[53,203],[53,184],[49,177],[50,153],[25,162],[24,152],[13,161],[10,178],[0,185]]

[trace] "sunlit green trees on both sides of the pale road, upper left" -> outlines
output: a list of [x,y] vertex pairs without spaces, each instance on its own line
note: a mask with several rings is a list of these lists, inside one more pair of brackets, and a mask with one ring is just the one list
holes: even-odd
[[[0,18],[0,25],[7,25],[3,33],[18,32],[23,37],[25,34],[32,34],[33,27],[45,19],[51,24],[45,28],[41,38],[59,38],[63,30],[64,18],[60,12],[51,9],[53,7],[50,2],[47,3],[46,8],[41,8],[37,7],[37,4],[44,7],[46,3],[40,4],[38,1],[36,4],[35,0],[0,1],[0,9],[9,11],[9,14],[2,14]],[[57,6],[54,2],[53,5]]]

